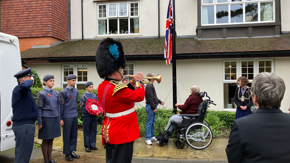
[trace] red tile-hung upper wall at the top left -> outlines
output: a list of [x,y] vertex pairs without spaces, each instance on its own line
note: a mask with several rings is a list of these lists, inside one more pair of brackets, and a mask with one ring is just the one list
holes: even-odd
[[0,10],[3,33],[68,40],[68,0],[6,0],[1,1]]

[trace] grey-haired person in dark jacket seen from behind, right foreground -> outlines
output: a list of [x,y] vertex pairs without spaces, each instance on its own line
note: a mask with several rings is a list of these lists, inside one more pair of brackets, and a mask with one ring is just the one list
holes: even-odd
[[290,115],[280,110],[284,81],[273,73],[259,73],[251,93],[257,111],[233,121],[228,162],[290,162]]

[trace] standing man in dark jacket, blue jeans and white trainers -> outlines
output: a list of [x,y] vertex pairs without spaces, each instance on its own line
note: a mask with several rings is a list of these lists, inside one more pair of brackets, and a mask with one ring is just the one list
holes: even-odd
[[[148,73],[147,77],[155,77],[154,73]],[[147,84],[145,87],[145,99],[146,99],[146,112],[147,112],[147,119],[145,124],[145,143],[148,145],[152,145],[151,140],[157,141],[154,136],[155,129],[155,116],[157,112],[158,104],[164,105],[164,102],[157,98],[155,88],[154,88],[154,80],[148,79],[149,82],[152,84]]]

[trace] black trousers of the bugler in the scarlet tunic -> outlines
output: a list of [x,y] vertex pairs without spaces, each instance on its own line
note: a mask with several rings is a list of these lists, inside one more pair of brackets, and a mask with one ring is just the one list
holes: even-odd
[[131,163],[133,156],[133,142],[124,144],[106,143],[106,163]]

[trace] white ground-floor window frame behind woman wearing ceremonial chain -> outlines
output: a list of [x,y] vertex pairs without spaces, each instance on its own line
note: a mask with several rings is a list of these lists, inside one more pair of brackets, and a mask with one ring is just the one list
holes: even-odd
[[[224,108],[224,101],[225,101],[225,97],[224,97],[224,84],[225,83],[237,83],[237,80],[226,80],[224,79],[224,76],[225,76],[225,67],[224,67],[224,63],[225,62],[234,62],[236,61],[237,63],[237,79],[239,77],[242,76],[242,61],[254,61],[253,65],[254,65],[254,70],[253,70],[253,73],[254,73],[254,77],[256,75],[258,75],[259,73],[259,61],[271,61],[271,72],[274,73],[275,72],[275,62],[274,62],[274,59],[273,58],[255,58],[255,59],[224,59],[222,64],[223,64],[223,80],[222,80],[222,89],[223,89],[223,111],[236,111],[236,108],[231,108],[231,109],[228,109],[228,108]],[[275,73],[274,73],[275,74]],[[252,83],[253,82],[253,79],[249,79],[249,82]],[[233,106],[234,107],[234,106]]]

